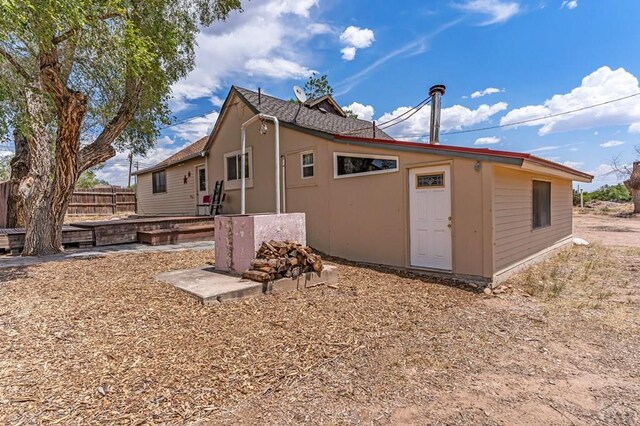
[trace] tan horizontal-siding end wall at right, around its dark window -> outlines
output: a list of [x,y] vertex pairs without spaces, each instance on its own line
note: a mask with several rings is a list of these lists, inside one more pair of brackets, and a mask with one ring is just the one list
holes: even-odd
[[[551,226],[532,229],[534,179],[551,182]],[[550,247],[572,233],[571,181],[505,167],[495,168],[495,270]]]

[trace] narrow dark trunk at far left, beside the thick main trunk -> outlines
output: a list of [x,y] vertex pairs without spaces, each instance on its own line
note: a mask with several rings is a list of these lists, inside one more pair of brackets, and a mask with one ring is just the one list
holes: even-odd
[[29,149],[27,138],[18,130],[13,131],[16,153],[11,159],[11,178],[9,179],[8,224],[9,228],[24,227],[24,204],[20,197],[20,182],[29,173]]

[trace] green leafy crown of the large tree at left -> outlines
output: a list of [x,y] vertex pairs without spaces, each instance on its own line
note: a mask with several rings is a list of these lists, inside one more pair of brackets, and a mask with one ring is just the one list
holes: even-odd
[[88,97],[83,141],[118,114],[130,96],[125,83],[142,82],[134,121],[115,147],[143,154],[170,122],[171,85],[193,69],[199,28],[235,10],[240,0],[0,0],[0,140],[28,129],[24,89],[37,81],[41,53],[55,52],[66,85]]

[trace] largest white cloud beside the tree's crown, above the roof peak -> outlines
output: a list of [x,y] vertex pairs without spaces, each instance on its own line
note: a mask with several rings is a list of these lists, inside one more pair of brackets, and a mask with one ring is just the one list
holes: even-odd
[[[253,76],[299,78],[312,60],[304,46],[309,38],[328,30],[311,12],[318,0],[266,0],[251,2],[243,13],[203,28],[197,37],[193,71],[172,86],[172,106],[210,98],[229,81]],[[300,31],[309,27],[310,31]],[[305,74],[306,75],[306,74]]]

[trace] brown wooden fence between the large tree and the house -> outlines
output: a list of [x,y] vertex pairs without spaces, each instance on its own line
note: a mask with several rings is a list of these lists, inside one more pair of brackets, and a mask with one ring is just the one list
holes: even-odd
[[134,213],[136,192],[126,188],[76,189],[73,192],[67,214],[108,215]]

